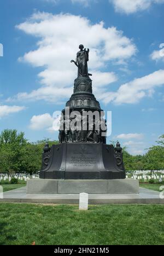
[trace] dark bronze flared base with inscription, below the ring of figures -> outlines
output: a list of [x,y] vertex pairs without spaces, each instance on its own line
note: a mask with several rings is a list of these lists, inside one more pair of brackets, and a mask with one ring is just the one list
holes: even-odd
[[[49,149],[49,148],[48,148]],[[46,149],[47,150],[47,149]],[[62,143],[43,154],[40,179],[125,179],[122,154],[113,145]]]

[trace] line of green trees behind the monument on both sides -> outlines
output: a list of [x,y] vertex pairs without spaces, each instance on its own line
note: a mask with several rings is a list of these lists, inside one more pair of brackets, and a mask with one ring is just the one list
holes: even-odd
[[[29,142],[25,133],[16,130],[3,130],[0,135],[0,173],[36,173],[42,165],[42,153],[45,142],[50,147],[57,141],[43,139]],[[123,149],[126,171],[131,170],[164,170],[164,135],[144,155],[133,156]]]

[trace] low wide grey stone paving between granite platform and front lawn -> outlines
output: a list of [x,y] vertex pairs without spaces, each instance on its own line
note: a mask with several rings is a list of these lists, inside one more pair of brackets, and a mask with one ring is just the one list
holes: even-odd
[[[60,203],[78,204],[79,195],[72,194],[26,194],[26,187],[10,190],[4,193],[0,202],[25,202],[25,203]],[[139,194],[90,194],[90,205],[119,203],[144,203],[164,204],[160,193],[154,190],[139,188]]]

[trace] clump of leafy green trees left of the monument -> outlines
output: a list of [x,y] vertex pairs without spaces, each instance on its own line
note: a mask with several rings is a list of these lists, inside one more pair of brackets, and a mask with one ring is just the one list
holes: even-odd
[[48,138],[36,143],[25,139],[24,132],[4,130],[0,135],[0,172],[27,172],[35,173],[42,165],[42,153],[46,142],[57,144]]

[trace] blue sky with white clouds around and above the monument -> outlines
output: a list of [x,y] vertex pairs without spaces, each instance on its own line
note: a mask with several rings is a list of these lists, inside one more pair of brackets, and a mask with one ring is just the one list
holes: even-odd
[[93,92],[113,113],[108,143],[143,154],[164,133],[163,13],[163,0],[1,0],[0,130],[57,139],[52,114],[73,92],[83,43]]

